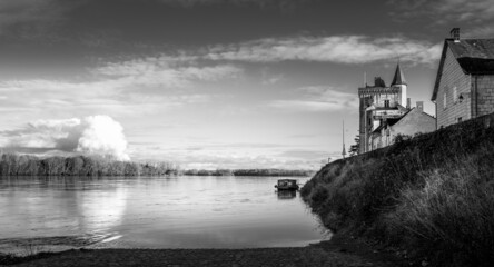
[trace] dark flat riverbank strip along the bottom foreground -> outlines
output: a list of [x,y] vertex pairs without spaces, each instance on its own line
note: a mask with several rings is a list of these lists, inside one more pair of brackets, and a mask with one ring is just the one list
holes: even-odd
[[307,247],[255,249],[72,249],[28,257],[0,256],[9,266],[419,266],[394,251],[346,235]]

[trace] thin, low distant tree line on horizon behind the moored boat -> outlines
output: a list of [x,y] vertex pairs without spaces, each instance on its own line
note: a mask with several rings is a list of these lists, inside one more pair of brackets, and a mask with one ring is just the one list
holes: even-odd
[[182,172],[189,176],[312,176],[313,170],[287,169],[189,169]]

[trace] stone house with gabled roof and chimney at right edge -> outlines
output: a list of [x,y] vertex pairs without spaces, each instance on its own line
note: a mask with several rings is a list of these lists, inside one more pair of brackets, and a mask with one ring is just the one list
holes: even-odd
[[437,128],[494,112],[494,39],[445,39],[434,91]]

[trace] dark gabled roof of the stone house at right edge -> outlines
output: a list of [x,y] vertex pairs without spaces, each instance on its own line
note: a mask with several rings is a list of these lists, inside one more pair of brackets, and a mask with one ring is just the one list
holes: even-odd
[[432,101],[436,100],[447,49],[451,49],[465,75],[494,75],[494,39],[444,40]]

